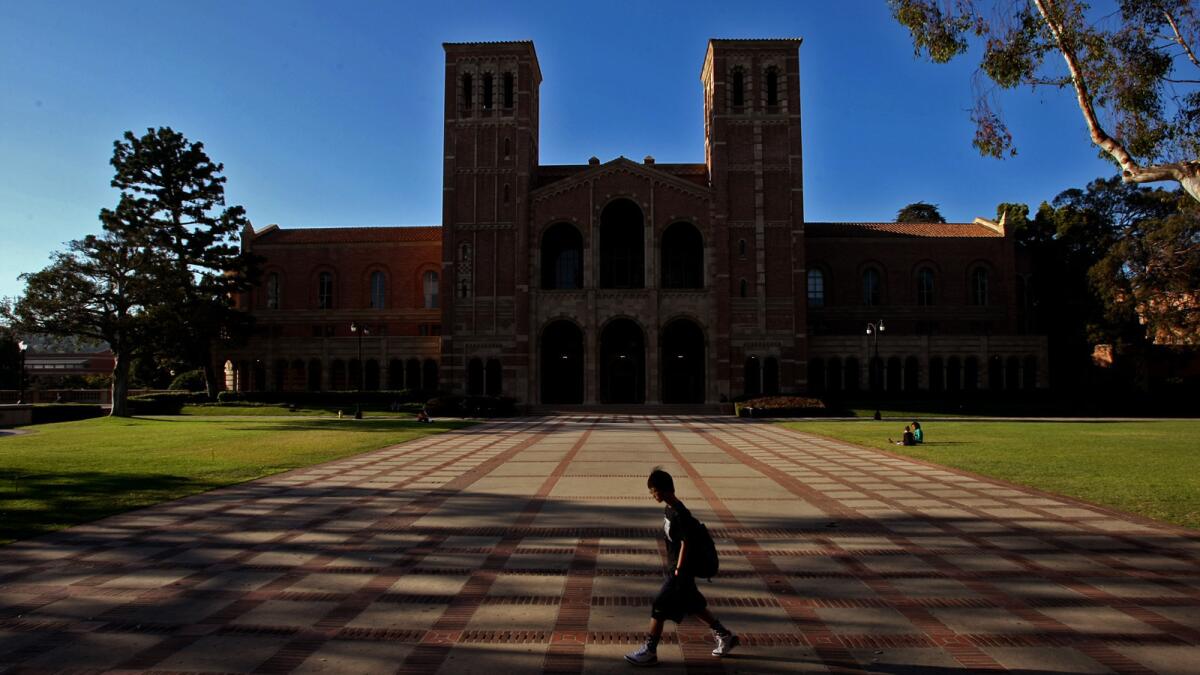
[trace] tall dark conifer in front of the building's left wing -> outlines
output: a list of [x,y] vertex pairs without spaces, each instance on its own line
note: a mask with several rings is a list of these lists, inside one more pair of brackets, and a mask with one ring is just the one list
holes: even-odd
[[170,127],[126,132],[114,143],[113,187],[121,190],[118,213],[104,228],[149,238],[168,264],[160,279],[166,301],[148,306],[155,325],[154,350],[175,370],[203,369],[205,389],[216,396],[212,346],[222,336],[246,331],[250,317],[233,306],[251,287],[257,258],[238,246],[248,225],[241,207],[224,207],[223,165],[214,163],[203,143],[191,143]]

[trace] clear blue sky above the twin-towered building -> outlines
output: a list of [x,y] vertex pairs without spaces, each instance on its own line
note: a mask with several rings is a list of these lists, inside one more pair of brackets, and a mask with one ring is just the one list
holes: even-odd
[[1001,101],[1020,154],[976,154],[972,59],[912,54],[882,0],[0,2],[0,297],[100,229],[113,141],[172,126],[256,227],[437,225],[442,42],[533,40],[541,162],[703,161],[709,37],[803,37],[808,220],[952,221],[1110,175],[1066,94]]

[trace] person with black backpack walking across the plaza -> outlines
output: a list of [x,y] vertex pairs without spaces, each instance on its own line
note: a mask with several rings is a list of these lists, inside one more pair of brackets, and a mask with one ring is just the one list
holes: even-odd
[[[667,542],[666,579],[659,595],[654,597],[650,609],[650,629],[646,643],[637,651],[625,655],[625,661],[634,665],[654,665],[659,662],[659,640],[667,621],[679,623],[689,614],[696,615],[713,629],[716,647],[713,656],[725,656],[738,646],[738,637],[726,628],[720,620],[708,610],[708,601],[696,587],[696,573],[710,575],[715,573],[716,548],[713,545],[708,530],[691,515],[674,492],[674,479],[661,467],[655,467],[646,480],[654,501],[666,504],[662,508],[664,534]],[[710,549],[710,551],[709,551]],[[712,561],[707,561],[707,557]]]

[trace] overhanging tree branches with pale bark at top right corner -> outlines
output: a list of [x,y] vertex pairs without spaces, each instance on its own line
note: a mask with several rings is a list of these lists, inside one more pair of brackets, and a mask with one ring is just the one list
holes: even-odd
[[[1194,0],[1118,0],[1094,17],[1081,0],[888,0],[917,54],[943,64],[983,42],[979,80],[1069,89],[1102,156],[1129,183],[1177,181],[1200,201],[1200,17]],[[990,5],[991,11],[982,7]],[[1061,56],[1062,62],[1048,56]],[[1015,154],[995,89],[972,121],[983,155]]]

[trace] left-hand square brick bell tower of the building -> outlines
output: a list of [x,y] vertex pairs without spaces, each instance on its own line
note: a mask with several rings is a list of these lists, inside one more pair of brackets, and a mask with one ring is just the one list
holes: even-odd
[[[443,44],[445,151],[442,187],[442,374],[444,389],[499,387],[526,398],[528,195],[538,168],[533,42]],[[492,383],[468,382],[487,363]],[[494,362],[494,365],[493,365]],[[479,392],[484,393],[484,392]]]

